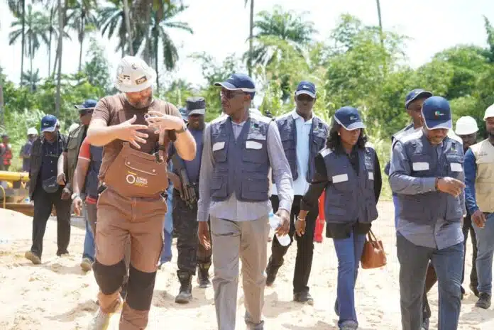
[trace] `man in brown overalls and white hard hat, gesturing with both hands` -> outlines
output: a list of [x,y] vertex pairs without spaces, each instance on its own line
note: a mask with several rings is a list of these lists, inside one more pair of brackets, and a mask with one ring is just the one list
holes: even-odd
[[93,264],[99,310],[91,330],[108,329],[111,314],[121,306],[128,238],[131,265],[119,329],[146,329],[163,247],[170,141],[181,158],[195,157],[194,138],[180,112],[168,102],[153,99],[155,79],[155,70],[140,58],[122,58],[114,82],[122,93],[97,103],[87,131],[88,143],[104,147],[99,170],[104,191],[98,198]]

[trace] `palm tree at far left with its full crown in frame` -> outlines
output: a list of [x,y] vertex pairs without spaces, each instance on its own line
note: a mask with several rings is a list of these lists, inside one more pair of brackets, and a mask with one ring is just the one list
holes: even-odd
[[[45,16],[40,11],[33,12],[33,6],[28,5],[28,13],[25,18],[20,18],[17,21],[13,21],[11,28],[14,30],[9,33],[9,45],[16,43],[19,36],[23,36],[27,39],[26,50],[30,60],[30,72],[33,72],[33,59],[36,51],[40,48],[41,42],[48,45],[48,35],[43,26],[45,21]],[[23,26],[27,23],[28,29],[24,31]],[[23,77],[21,76],[21,84],[23,82]]]

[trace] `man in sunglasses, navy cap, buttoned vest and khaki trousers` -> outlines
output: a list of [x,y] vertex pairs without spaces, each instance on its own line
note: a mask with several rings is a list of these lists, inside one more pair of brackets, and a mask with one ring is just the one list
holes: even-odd
[[218,329],[235,329],[241,258],[245,321],[248,329],[261,330],[271,210],[268,172],[272,169],[278,188],[280,235],[290,230],[292,174],[278,126],[249,111],[256,93],[251,77],[234,74],[215,85],[221,87],[226,116],[209,123],[204,131],[197,211],[199,240],[204,247],[211,247],[207,224],[210,215]]

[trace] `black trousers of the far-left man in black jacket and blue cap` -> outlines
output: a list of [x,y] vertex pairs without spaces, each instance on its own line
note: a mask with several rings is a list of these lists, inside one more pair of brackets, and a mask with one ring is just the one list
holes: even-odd
[[33,194],[33,246],[31,252],[41,258],[43,253],[43,237],[45,236],[46,222],[55,206],[57,211],[57,255],[67,253],[70,242],[70,199],[61,199],[62,188],[52,194],[45,192],[40,185]]

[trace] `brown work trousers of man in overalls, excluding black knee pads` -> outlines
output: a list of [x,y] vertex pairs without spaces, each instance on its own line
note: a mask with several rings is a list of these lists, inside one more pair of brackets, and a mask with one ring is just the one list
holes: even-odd
[[[141,330],[148,324],[148,314],[153,298],[154,279],[158,268],[158,260],[163,248],[163,221],[167,211],[166,201],[159,199],[124,197],[107,188],[98,199],[96,226],[96,260],[105,266],[117,265],[124,259],[126,242],[131,241],[131,268],[134,274],[143,274],[143,278],[152,279],[148,282],[140,278],[128,278],[126,302],[120,319],[120,330]],[[142,292],[148,292],[142,297]],[[119,305],[119,290],[111,295],[98,295],[99,306],[104,312],[112,312]],[[135,309],[127,302],[140,297],[139,306],[147,305],[146,309]],[[142,302],[144,300],[144,302]]]

